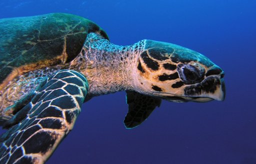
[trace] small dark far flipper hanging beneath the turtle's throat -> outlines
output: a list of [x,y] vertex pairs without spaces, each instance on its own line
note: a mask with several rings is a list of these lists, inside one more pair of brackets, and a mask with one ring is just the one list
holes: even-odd
[[126,128],[133,128],[141,124],[156,106],[160,106],[161,99],[135,91],[126,91],[126,103],[128,104],[128,113],[123,123]]

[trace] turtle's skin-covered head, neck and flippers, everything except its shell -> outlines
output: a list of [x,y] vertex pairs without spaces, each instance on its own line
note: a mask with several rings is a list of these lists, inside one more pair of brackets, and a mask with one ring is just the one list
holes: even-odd
[[208,58],[175,44],[141,40],[119,46],[89,33],[71,62],[24,73],[3,91],[1,97],[12,105],[1,108],[3,127],[9,129],[0,136],[0,163],[44,163],[72,129],[81,104],[93,96],[126,90],[124,124],[133,128],[160,98],[222,100],[222,77]]

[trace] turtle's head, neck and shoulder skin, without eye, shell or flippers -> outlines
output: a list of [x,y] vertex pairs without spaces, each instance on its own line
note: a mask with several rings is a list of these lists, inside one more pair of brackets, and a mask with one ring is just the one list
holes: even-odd
[[[182,65],[194,65],[202,76],[192,83],[184,81]],[[71,62],[24,73],[12,80],[0,93],[1,117],[8,119],[12,110],[6,107],[59,69],[76,70],[85,75],[89,84],[86,100],[120,90],[134,90],[178,102],[224,98],[222,69],[198,52],[152,40],[141,40],[129,46],[115,45],[91,32],[81,52]]]

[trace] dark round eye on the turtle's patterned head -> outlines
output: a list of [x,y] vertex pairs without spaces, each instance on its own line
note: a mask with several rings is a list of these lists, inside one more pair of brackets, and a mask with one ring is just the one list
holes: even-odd
[[182,81],[191,84],[202,80],[204,69],[200,68],[199,65],[179,64],[178,73]]

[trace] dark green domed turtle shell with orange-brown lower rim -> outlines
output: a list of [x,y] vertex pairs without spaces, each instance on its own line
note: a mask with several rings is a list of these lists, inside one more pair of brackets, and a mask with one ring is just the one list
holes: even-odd
[[24,72],[71,61],[89,32],[108,39],[94,22],[67,13],[0,19],[0,90]]

